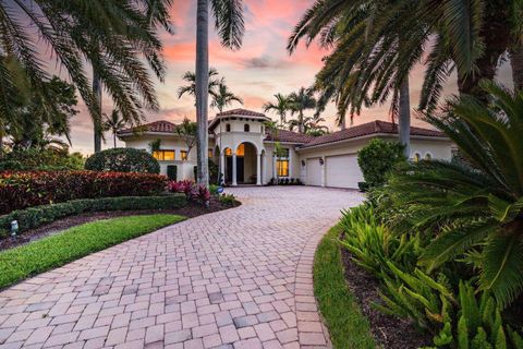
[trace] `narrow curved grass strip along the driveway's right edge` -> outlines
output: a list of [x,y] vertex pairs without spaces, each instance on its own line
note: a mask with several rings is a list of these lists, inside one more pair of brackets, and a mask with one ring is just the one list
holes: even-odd
[[335,226],[324,237],[314,257],[314,293],[335,348],[376,348],[367,318],[348,288]]

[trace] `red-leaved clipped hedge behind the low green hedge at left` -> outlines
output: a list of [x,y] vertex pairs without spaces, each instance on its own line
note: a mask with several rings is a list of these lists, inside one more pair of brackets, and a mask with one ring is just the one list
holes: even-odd
[[166,184],[166,177],[145,173],[0,172],[0,214],[75,198],[155,195]]

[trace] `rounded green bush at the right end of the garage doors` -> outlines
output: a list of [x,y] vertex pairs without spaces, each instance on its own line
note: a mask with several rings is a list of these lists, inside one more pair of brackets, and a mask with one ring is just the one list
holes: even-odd
[[372,140],[357,154],[357,165],[366,182],[364,189],[384,185],[390,170],[402,161],[405,161],[403,145],[379,139]]

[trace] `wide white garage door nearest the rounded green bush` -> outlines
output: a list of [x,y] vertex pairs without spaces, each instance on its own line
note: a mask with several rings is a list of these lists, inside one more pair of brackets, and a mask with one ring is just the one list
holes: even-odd
[[356,154],[329,156],[325,163],[326,186],[357,189],[357,182],[363,181]]

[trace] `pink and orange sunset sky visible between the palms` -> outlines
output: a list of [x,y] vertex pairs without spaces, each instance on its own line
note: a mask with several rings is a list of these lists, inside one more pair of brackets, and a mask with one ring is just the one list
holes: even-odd
[[[244,100],[244,108],[263,111],[262,106],[271,100],[277,93],[288,94],[301,86],[309,86],[314,75],[321,67],[321,51],[316,45],[308,49],[300,47],[289,56],[285,50],[287,39],[292,28],[314,0],[244,0],[245,37],[239,51],[230,51],[220,47],[217,36],[210,29],[209,63],[216,68],[220,76],[224,76],[228,86]],[[178,88],[184,84],[181,76],[185,71],[194,71],[195,67],[195,22],[196,0],[175,0],[172,8],[172,21],[175,35],[162,34],[165,58],[168,73],[163,84],[157,83],[157,92],[161,104],[159,113],[148,112],[147,121],[169,120],[179,122],[183,117],[195,119],[194,100],[190,96],[177,97]],[[411,104],[417,105],[423,69],[416,68],[411,75]],[[504,64],[499,79],[510,82],[510,69]],[[446,94],[455,92],[455,83],[450,81]],[[238,104],[231,108],[240,107]],[[72,120],[72,151],[84,154],[93,153],[93,125],[83,105],[82,112]],[[104,100],[104,109],[110,112],[111,103]],[[388,119],[388,105],[376,106],[356,117],[355,124],[375,119]],[[209,111],[209,119],[216,111]],[[335,127],[335,108],[330,106],[324,117],[331,130]],[[276,116],[271,116],[275,117]],[[416,123],[416,121],[414,121]],[[111,136],[104,147],[110,147]],[[123,145],[123,143],[120,143]]]

